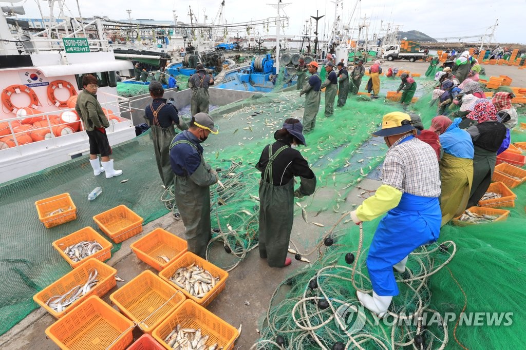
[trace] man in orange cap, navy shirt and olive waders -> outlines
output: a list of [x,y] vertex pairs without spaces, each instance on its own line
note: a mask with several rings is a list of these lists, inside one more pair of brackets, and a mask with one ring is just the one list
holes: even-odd
[[304,131],[310,132],[314,130],[316,125],[316,115],[318,114],[318,109],[320,108],[321,100],[321,78],[318,74],[318,62],[312,61],[307,65],[309,68],[309,73],[312,74],[304,84],[304,87],[299,92],[299,96],[305,95],[305,110],[303,112],[303,125]]

